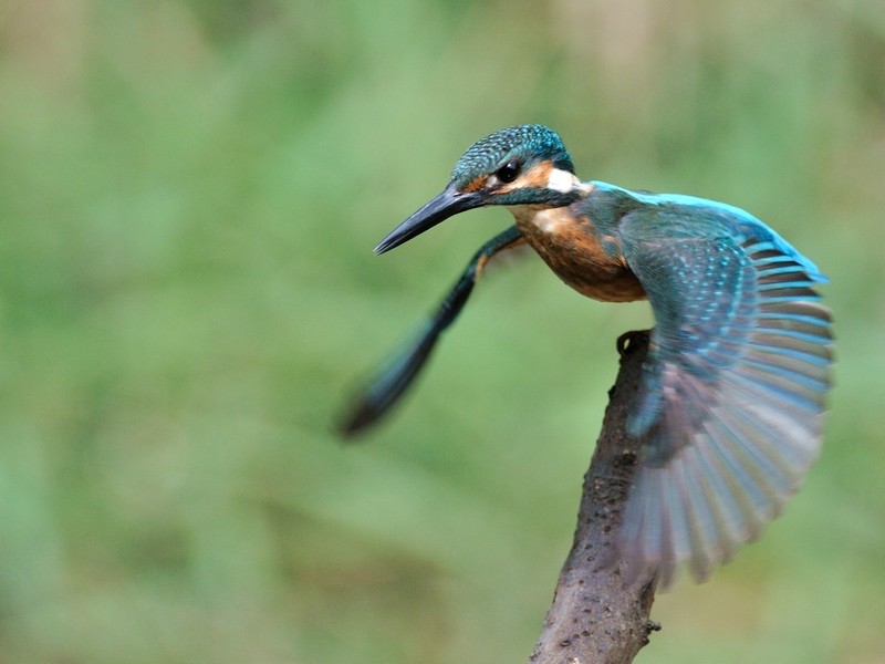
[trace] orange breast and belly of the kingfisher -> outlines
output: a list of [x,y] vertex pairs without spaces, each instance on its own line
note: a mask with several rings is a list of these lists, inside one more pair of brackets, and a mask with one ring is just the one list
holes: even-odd
[[602,235],[569,208],[511,209],[517,226],[550,269],[577,292],[605,302],[644,299],[639,280],[627,267],[615,236]]

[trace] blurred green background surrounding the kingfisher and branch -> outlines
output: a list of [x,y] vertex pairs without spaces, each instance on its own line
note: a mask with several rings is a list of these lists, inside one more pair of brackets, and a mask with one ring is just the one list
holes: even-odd
[[528,656],[647,305],[525,256],[331,433],[510,218],[372,247],[524,122],[832,279],[821,461],[637,661],[885,662],[882,0],[1,3],[0,662]]

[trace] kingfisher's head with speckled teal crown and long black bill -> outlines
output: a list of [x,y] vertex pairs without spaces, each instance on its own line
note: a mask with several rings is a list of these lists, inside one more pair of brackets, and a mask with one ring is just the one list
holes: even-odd
[[501,129],[468,147],[446,188],[378,242],[375,253],[472,208],[571,205],[580,197],[579,184],[572,159],[553,129],[543,125]]

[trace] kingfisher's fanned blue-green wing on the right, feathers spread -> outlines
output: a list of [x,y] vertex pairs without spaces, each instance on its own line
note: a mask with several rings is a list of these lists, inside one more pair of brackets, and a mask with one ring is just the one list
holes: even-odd
[[655,314],[627,430],[644,437],[618,554],[704,580],[774,518],[815,460],[830,388],[816,267],[754,218],[698,205],[622,219]]

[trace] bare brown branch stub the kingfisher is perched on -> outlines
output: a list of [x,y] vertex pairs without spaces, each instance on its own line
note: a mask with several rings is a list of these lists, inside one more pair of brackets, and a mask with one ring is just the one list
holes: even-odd
[[530,664],[627,664],[660,629],[648,618],[653,580],[627,585],[617,561],[611,560],[638,455],[639,443],[626,436],[624,424],[642,376],[648,333],[628,332],[617,345],[621,370],[584,476],[574,543]]

